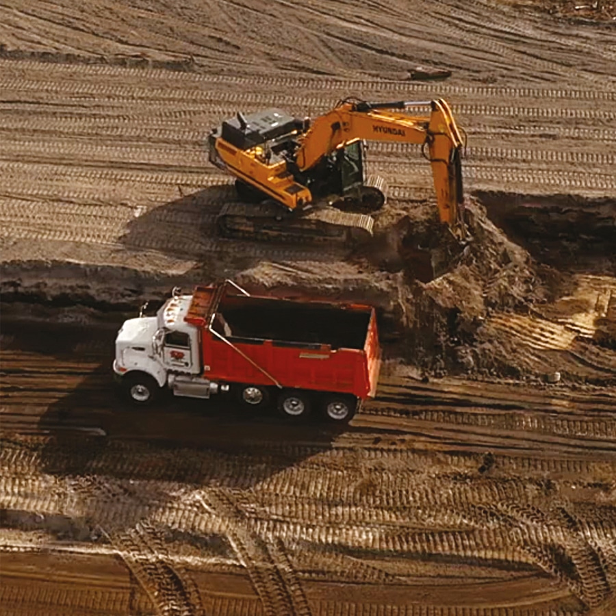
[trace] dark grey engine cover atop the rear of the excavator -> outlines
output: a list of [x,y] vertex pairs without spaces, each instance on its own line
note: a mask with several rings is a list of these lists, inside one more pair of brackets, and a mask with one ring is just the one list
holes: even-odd
[[276,139],[298,128],[301,121],[279,109],[268,109],[224,120],[222,139],[240,150],[248,150],[256,145]]

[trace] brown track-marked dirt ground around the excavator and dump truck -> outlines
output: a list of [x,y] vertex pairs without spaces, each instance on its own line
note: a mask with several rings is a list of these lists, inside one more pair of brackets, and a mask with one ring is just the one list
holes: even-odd
[[[4,1],[2,613],[615,615],[615,65],[609,1]],[[387,143],[369,246],[217,237],[209,130],[348,96],[451,103],[464,251]],[[376,399],[129,407],[120,324],[223,278],[376,305]]]

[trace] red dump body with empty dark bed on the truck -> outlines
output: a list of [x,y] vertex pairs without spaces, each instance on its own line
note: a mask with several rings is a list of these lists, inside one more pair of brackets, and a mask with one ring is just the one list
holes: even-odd
[[381,365],[367,305],[248,296],[196,287],[185,320],[201,329],[203,376],[374,396]]

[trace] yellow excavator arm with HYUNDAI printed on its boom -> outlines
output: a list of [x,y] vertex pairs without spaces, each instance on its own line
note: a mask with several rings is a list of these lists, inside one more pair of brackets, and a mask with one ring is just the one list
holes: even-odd
[[[430,115],[403,113],[418,105],[430,105]],[[331,112],[313,120],[300,138],[296,165],[300,171],[309,170],[323,157],[357,140],[422,144],[422,153],[432,166],[439,218],[457,237],[466,235],[461,170],[464,140],[446,101],[342,101]]]

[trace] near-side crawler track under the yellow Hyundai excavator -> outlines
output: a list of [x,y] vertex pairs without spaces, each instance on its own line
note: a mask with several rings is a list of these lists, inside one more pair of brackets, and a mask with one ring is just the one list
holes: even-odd
[[216,217],[224,238],[307,244],[360,244],[372,238],[374,219],[329,205],[302,213],[286,211],[274,201],[226,203]]

